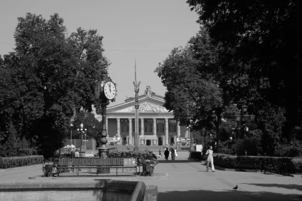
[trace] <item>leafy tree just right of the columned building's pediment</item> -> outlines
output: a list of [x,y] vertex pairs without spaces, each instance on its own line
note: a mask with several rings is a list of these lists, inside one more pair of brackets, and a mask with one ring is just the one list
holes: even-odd
[[[250,95],[251,86],[246,72],[240,70],[235,74],[229,70],[235,65],[233,52],[232,48],[215,44],[207,30],[200,27],[185,48],[173,50],[164,64],[156,69],[168,90],[165,106],[173,110],[176,117],[186,119],[183,124],[192,119],[198,122],[195,129],[214,129],[216,144],[220,140],[219,127],[225,110],[235,103],[240,106],[247,104]],[[245,66],[246,69],[248,67]],[[195,95],[196,99],[192,98],[194,93],[199,95]]]

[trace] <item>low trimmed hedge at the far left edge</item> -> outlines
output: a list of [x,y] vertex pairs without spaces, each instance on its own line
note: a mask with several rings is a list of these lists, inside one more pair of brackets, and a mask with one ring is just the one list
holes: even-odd
[[40,164],[43,160],[43,156],[2,157],[0,158],[0,169]]

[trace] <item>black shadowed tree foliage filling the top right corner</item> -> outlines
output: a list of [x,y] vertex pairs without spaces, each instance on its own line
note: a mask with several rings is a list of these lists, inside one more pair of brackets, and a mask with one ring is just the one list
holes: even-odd
[[[302,45],[300,1],[188,0],[211,38],[235,48],[237,63],[249,63],[248,75],[266,102],[285,108],[287,135],[302,120]],[[236,65],[234,66],[236,67]],[[288,136],[286,136],[288,137]]]

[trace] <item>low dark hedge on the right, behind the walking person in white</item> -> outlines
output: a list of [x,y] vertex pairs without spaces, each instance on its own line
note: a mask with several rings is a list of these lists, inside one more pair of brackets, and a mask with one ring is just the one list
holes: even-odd
[[[200,151],[190,152],[193,159],[204,160],[204,155]],[[286,163],[286,172],[291,174],[302,174],[302,158],[292,157],[269,157],[269,156],[233,156],[226,154],[213,154],[214,164],[223,168],[235,168],[241,160],[257,160],[265,164],[265,161],[279,161]],[[263,168],[263,167],[262,167]]]

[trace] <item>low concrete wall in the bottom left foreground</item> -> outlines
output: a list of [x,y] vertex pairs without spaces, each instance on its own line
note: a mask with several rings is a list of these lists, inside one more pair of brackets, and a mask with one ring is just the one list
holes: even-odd
[[157,186],[142,181],[112,179],[29,179],[2,180],[0,201],[6,200],[157,200]]

